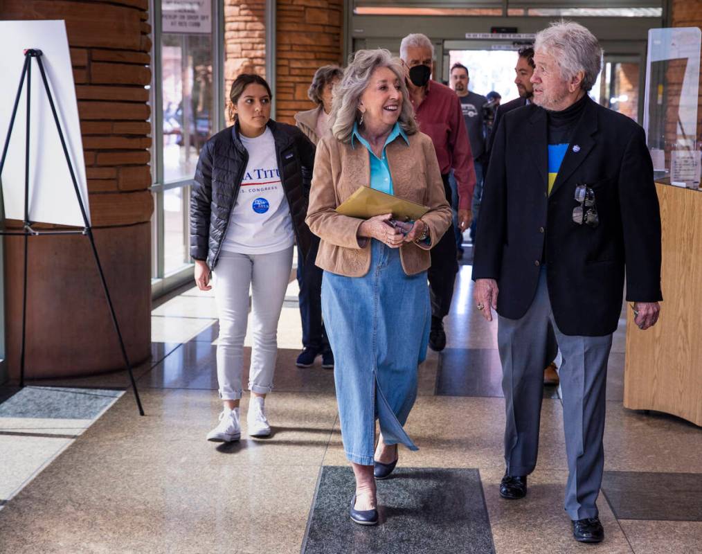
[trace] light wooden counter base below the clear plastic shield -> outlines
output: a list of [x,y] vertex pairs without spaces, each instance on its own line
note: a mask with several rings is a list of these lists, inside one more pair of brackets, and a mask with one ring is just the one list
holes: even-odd
[[661,203],[663,303],[641,331],[627,312],[624,406],[702,426],[702,192],[656,183]]

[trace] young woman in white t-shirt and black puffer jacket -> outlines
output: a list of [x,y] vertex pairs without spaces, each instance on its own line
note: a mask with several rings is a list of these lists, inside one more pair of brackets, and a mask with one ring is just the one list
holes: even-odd
[[190,208],[190,253],[195,282],[211,289],[220,322],[217,345],[218,425],[208,440],[241,437],[243,350],[249,318],[253,348],[249,371],[249,435],[270,435],[265,397],[273,387],[277,327],[297,242],[310,246],[305,224],[309,191],[302,169],[312,171],[314,145],[296,127],[270,119],[272,93],[265,79],[242,74],[232,84],[234,126],[210,138],[200,152]]

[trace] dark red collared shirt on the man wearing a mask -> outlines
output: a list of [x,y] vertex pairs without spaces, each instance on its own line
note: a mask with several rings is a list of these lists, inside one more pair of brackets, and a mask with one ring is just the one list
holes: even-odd
[[453,168],[458,184],[458,209],[470,209],[475,188],[475,166],[465,129],[461,100],[451,88],[430,80],[419,107],[419,130],[429,135],[437,152],[442,175]]

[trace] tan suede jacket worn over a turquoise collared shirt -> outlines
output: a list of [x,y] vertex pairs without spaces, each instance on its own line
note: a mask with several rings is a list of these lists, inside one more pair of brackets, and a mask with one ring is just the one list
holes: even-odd
[[[422,220],[429,227],[431,244],[405,243],[399,253],[406,275],[429,268],[429,250],[451,225],[451,207],[446,202],[444,183],[432,140],[424,133],[398,137],[386,147],[395,196],[428,206]],[[327,133],[317,144],[314,173],[307,209],[307,225],[322,241],[317,265],[347,277],[362,277],[371,266],[371,241],[357,237],[362,219],[342,216],[335,208],[359,186],[371,181],[369,152],[355,141],[341,143]]]

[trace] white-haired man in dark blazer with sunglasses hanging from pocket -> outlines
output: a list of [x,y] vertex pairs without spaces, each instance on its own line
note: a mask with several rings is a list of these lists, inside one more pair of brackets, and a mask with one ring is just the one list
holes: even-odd
[[504,115],[478,223],[478,310],[498,312],[507,404],[500,494],[527,494],[536,466],[545,334],[555,330],[575,539],[600,542],[607,359],[623,300],[635,323],[656,323],[661,219],[644,131],[588,97],[602,49],[581,25],[536,36],[534,100]]

